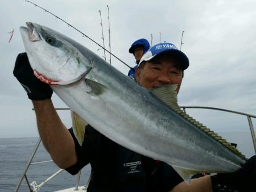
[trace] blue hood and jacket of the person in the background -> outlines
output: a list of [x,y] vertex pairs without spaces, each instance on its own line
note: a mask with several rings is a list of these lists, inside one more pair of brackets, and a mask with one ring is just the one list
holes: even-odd
[[[148,51],[148,49],[150,48],[150,44],[148,43],[148,41],[146,39],[138,39],[136,41],[134,41],[133,44],[131,44],[131,47],[129,49],[129,53],[134,53],[134,49],[138,46],[142,46],[143,47],[143,54],[146,53]],[[139,64],[139,61],[136,61],[136,64],[133,67],[133,70],[129,70],[128,73],[128,77],[133,78],[135,80],[135,70]]]

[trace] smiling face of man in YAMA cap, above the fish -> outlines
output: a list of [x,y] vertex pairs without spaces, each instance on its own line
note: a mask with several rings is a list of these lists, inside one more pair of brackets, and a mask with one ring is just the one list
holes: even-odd
[[177,93],[183,78],[183,70],[174,57],[160,55],[136,69],[136,80],[146,89],[177,84]]

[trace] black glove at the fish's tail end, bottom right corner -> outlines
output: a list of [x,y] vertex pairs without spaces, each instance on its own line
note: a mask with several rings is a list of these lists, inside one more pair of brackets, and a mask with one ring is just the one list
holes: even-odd
[[240,192],[256,191],[256,156],[249,158],[241,169],[233,173],[219,173],[212,176],[212,186],[225,186]]

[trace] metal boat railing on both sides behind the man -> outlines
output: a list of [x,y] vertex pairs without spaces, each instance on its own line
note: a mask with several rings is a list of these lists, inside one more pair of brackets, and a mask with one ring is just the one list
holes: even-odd
[[[253,145],[254,145],[254,151],[255,151],[255,154],[256,154],[256,139],[255,139],[255,132],[254,132],[254,128],[253,128],[253,122],[251,121],[251,118],[255,118],[256,119],[256,115],[251,115],[251,114],[247,114],[245,112],[240,112],[240,111],[233,111],[233,110],[227,110],[225,108],[216,108],[216,107],[204,107],[204,106],[181,106],[181,108],[183,108],[183,111],[185,112],[186,108],[201,108],[201,109],[210,109],[210,110],[218,110],[218,111],[225,111],[225,112],[231,112],[231,113],[234,113],[234,114],[239,114],[239,115],[244,115],[247,117],[247,120],[248,120],[248,123],[249,123],[249,127],[250,127],[250,132],[251,132],[251,137],[253,139]],[[56,110],[69,110],[69,108],[55,108]],[[34,110],[34,109],[33,109]],[[60,169],[58,170],[56,173],[52,174],[52,176],[50,176],[49,178],[47,178],[45,181],[43,181],[42,183],[40,183],[39,185],[36,184],[35,181],[33,181],[31,184],[28,182],[28,178],[26,176],[26,173],[27,173],[27,170],[29,168],[30,165],[32,164],[40,164],[40,163],[45,163],[45,162],[50,162],[52,160],[49,160],[49,161],[41,161],[41,162],[33,162],[31,163],[32,159],[34,158],[35,156],[35,153],[39,147],[39,144],[41,142],[41,139],[39,137],[36,145],[35,145],[35,148],[32,152],[32,155],[31,157],[29,158],[28,162],[27,162],[27,166],[26,168],[24,169],[24,172],[22,173],[22,176],[20,177],[20,180],[14,190],[14,192],[17,192],[19,190],[19,187],[20,187],[20,184],[22,183],[23,179],[25,178],[26,179],[26,182],[27,182],[27,185],[28,185],[28,188],[30,190],[30,192],[36,192],[38,190],[40,190],[40,188],[45,185],[48,181],[52,180],[54,177],[56,177],[58,174],[60,174],[64,169]],[[80,175],[81,175],[81,170],[80,172],[77,174],[77,180],[76,180],[76,185],[75,185],[75,190],[78,190],[78,186],[79,186],[79,182],[80,182]],[[87,184],[85,185],[85,188],[86,186],[88,186],[89,184],[89,181],[90,181],[90,178],[87,182]],[[31,186],[34,188],[34,189],[31,189]]]

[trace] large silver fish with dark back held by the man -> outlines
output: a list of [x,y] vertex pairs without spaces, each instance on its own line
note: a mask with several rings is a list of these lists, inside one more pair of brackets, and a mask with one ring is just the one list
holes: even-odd
[[83,119],[82,126],[73,124],[80,143],[89,123],[116,143],[167,162],[187,183],[195,173],[234,172],[245,163],[236,148],[180,110],[175,86],[144,89],[69,37],[27,27],[20,33],[34,74],[74,111],[73,122]]

